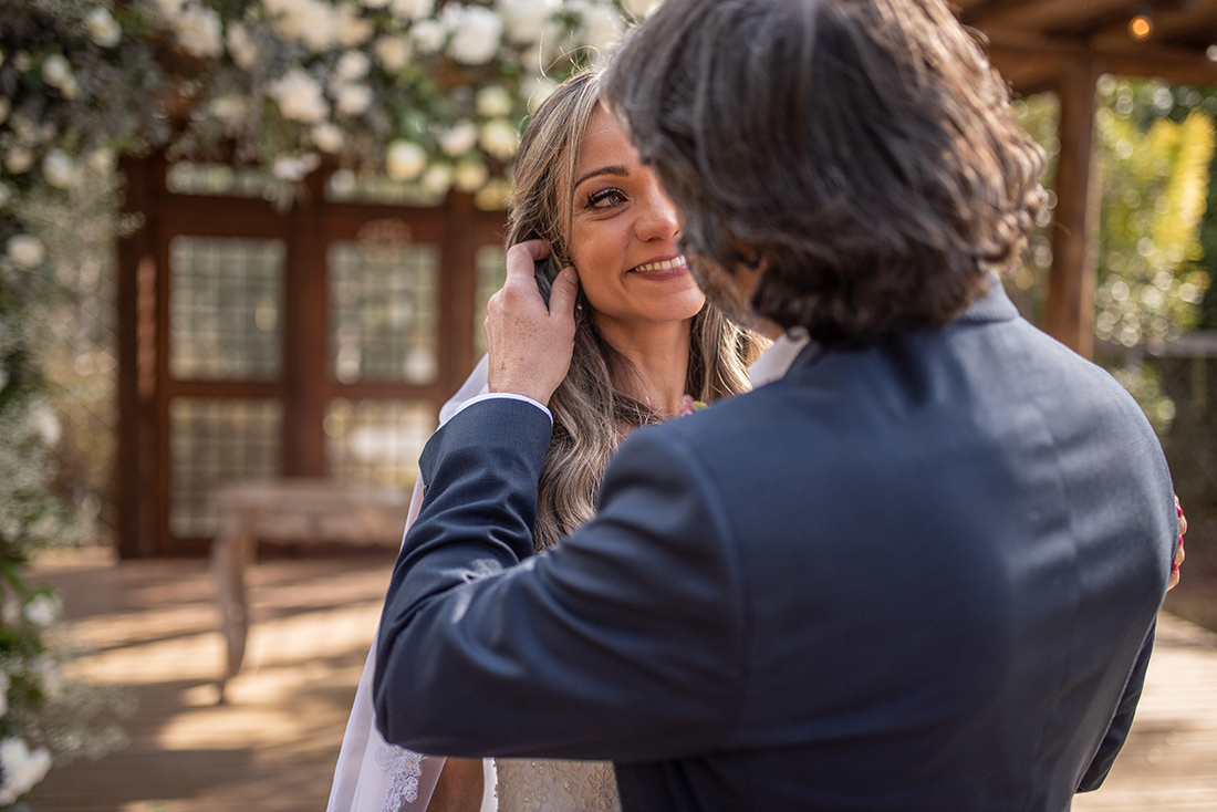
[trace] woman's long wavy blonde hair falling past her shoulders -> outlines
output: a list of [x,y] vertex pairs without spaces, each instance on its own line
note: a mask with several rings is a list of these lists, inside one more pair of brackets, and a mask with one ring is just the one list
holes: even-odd
[[[506,245],[533,239],[549,243],[550,258],[537,269],[546,297],[556,273],[572,264],[574,168],[599,101],[596,72],[585,71],[562,83],[529,119],[516,156]],[[629,363],[596,330],[582,291],[574,321],[571,370],[549,404],[554,438],[538,486],[533,537],[538,550],[591,519],[605,467],[624,435],[662,418],[619,386]],[[685,391],[706,403],[746,391],[747,366],[763,346],[762,338],[707,302],[692,320]]]

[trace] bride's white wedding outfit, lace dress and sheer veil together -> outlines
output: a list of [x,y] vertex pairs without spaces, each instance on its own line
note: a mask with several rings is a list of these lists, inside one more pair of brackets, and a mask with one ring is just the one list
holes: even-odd
[[[488,359],[482,358],[460,390],[439,410],[445,424],[470,399],[486,393]],[[422,482],[410,499],[406,530],[419,515]],[[376,729],[371,682],[376,640],[364,663],[326,812],[424,812],[431,801],[442,756],[425,756],[387,744]],[[497,763],[495,763],[497,762]],[[487,758],[481,812],[618,812],[617,782],[606,761]]]

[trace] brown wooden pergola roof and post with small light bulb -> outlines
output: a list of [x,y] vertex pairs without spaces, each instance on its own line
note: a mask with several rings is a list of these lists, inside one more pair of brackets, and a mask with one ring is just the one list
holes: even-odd
[[1053,267],[1044,324],[1078,353],[1093,351],[1098,185],[1095,85],[1101,74],[1217,85],[1217,0],[957,0],[960,21],[989,43],[1023,96],[1060,100]]

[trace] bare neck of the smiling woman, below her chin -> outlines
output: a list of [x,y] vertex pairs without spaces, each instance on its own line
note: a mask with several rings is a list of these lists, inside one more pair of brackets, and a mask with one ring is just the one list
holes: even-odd
[[617,387],[660,415],[679,414],[689,375],[692,319],[598,326],[605,341],[629,362],[612,370]]

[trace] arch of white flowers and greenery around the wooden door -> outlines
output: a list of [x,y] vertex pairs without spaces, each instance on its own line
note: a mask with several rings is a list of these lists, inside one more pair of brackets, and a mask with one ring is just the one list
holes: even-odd
[[[26,567],[89,530],[51,483],[44,351],[63,257],[140,231],[119,159],[249,167],[281,211],[319,167],[494,209],[528,111],[657,2],[0,0],[0,808],[65,738],[45,721],[56,598]],[[68,271],[95,276],[94,259]]]

